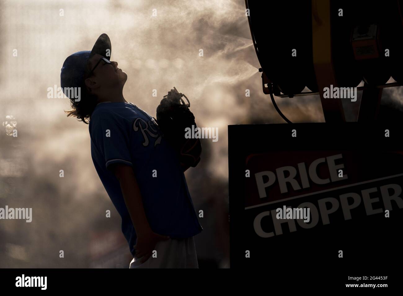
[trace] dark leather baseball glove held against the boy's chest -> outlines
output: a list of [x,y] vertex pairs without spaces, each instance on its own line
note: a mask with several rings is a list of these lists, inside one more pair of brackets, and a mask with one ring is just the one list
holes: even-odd
[[[185,97],[187,103],[182,99]],[[164,138],[179,154],[181,166],[195,167],[200,161],[202,144],[200,139],[186,139],[185,128],[196,128],[195,116],[189,110],[189,99],[174,87],[164,95],[157,107],[157,123]]]

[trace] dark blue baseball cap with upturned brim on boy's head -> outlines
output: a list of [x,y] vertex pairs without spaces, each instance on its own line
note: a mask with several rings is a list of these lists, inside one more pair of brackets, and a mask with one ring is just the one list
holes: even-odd
[[[108,35],[104,33],[98,37],[91,51],[84,50],[68,56],[66,60],[64,60],[60,73],[60,86],[64,90],[64,94],[69,97],[72,92],[66,91],[66,88],[82,86],[85,67],[87,66],[89,58],[95,54],[100,54],[110,60],[111,51],[110,39]],[[69,98],[73,99],[72,97]]]

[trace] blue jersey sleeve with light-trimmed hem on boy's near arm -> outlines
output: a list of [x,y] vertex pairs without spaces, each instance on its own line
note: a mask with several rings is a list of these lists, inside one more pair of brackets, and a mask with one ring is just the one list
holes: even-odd
[[[91,126],[94,144],[105,157],[108,169],[112,164],[133,166],[129,147],[129,133],[122,122],[113,117],[97,116]],[[91,118],[92,120],[92,118]]]

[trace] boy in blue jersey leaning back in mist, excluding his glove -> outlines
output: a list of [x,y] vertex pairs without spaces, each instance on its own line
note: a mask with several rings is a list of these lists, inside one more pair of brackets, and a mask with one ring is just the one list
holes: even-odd
[[[73,108],[67,116],[89,124],[93,164],[122,217],[130,268],[198,268],[193,236],[203,228],[186,168],[154,118],[123,97],[127,74],[110,61],[110,51],[102,34],[91,52],[64,61],[60,84]],[[79,98],[71,87],[80,89]]]

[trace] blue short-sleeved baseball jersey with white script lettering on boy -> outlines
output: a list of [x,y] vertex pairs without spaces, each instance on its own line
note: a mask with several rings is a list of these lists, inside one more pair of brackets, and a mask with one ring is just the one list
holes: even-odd
[[188,238],[203,230],[178,155],[150,115],[132,103],[100,103],[91,115],[89,134],[93,164],[122,217],[122,232],[133,257],[137,236],[119,181],[108,169],[111,164],[133,168],[152,231]]

